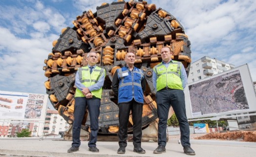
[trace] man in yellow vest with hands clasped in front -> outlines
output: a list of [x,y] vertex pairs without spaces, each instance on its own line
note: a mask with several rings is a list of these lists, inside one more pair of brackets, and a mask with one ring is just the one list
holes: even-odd
[[98,134],[98,118],[100,115],[102,86],[105,80],[105,70],[96,66],[98,56],[96,52],[87,54],[88,65],[79,68],[76,73],[75,85],[77,87],[75,94],[74,121],[72,129],[72,147],[67,150],[68,153],[79,150],[80,131],[82,121],[85,115],[86,107],[90,117],[90,140],[88,142],[89,151],[99,152],[96,147]]

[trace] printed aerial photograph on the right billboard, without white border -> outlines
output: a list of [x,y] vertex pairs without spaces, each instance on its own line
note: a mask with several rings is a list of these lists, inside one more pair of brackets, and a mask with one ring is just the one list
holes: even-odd
[[239,70],[189,86],[192,115],[249,109]]

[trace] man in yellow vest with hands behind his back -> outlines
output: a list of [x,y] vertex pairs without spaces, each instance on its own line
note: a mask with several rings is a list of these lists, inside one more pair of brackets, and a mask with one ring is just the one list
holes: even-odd
[[158,147],[155,154],[165,153],[166,128],[169,109],[172,106],[179,121],[181,132],[181,144],[184,153],[195,155],[190,147],[190,129],[186,116],[185,96],[183,89],[186,87],[188,78],[183,64],[171,59],[171,48],[161,48],[162,62],[153,69],[153,86],[156,89],[156,104],[158,122]]

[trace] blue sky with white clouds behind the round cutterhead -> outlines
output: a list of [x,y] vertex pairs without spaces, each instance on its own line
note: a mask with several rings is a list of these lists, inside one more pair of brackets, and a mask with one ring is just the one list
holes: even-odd
[[[72,20],[117,0],[0,0],[0,91],[46,94],[43,66]],[[171,13],[204,56],[249,65],[256,81],[256,0],[148,0]]]

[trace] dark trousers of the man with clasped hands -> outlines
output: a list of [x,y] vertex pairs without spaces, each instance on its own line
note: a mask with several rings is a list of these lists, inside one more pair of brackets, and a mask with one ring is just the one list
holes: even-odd
[[80,131],[82,121],[85,115],[85,109],[87,106],[89,117],[90,117],[90,140],[88,142],[89,147],[96,146],[97,142],[97,134],[99,130],[99,115],[100,115],[100,105],[101,99],[99,98],[85,98],[85,97],[77,97],[75,98],[75,110],[74,110],[74,121],[73,121],[73,129],[72,129],[72,146],[79,147],[80,142]]

